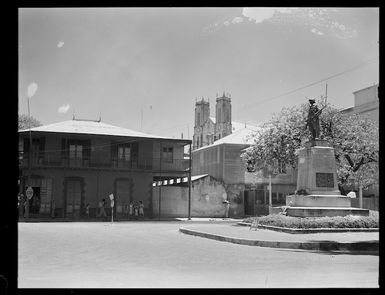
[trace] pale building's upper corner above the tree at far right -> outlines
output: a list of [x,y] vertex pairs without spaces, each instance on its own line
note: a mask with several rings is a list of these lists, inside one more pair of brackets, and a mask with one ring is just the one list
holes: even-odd
[[354,106],[340,110],[343,114],[360,114],[379,123],[379,84],[353,92]]

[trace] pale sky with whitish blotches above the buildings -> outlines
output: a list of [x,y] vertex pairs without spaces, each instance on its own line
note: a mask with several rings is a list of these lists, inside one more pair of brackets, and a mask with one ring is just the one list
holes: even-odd
[[[233,121],[379,83],[379,8],[19,8],[19,114],[191,139],[196,100]],[[327,86],[326,86],[327,84]],[[33,86],[31,86],[33,85]]]

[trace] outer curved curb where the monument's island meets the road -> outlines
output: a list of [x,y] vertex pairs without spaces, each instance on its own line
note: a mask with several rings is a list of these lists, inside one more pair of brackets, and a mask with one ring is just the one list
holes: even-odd
[[248,246],[318,250],[318,251],[328,251],[328,250],[379,251],[378,241],[352,242],[352,243],[340,243],[335,241],[320,241],[320,242],[260,241],[260,240],[251,240],[251,239],[242,239],[242,238],[232,238],[227,236],[221,236],[221,235],[191,230],[183,227],[180,227],[179,231],[188,235],[203,237],[203,238],[222,241],[222,242],[230,242],[234,244],[248,245]]

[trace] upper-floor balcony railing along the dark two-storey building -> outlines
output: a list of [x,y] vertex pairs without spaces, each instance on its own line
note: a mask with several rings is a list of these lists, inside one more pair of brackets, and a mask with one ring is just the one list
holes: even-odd
[[[30,155],[19,153],[19,167],[29,167]],[[186,166],[187,164],[187,166]],[[40,153],[31,157],[31,168],[74,168],[74,169],[106,169],[106,170],[141,170],[141,171],[185,171],[188,160],[172,159],[160,161],[160,158],[138,157],[121,160],[100,157],[69,157],[59,153]]]

